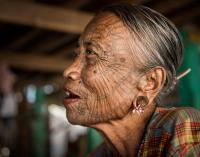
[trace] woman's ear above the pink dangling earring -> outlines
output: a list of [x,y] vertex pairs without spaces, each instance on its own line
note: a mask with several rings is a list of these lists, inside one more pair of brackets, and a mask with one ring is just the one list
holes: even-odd
[[164,86],[166,71],[163,67],[157,66],[148,71],[139,81],[138,89],[142,95],[154,99]]

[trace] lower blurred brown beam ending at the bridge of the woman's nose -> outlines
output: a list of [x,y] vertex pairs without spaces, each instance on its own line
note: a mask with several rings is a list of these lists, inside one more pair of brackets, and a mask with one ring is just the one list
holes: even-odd
[[63,72],[72,62],[65,58],[14,52],[1,52],[0,61],[11,67],[41,72]]

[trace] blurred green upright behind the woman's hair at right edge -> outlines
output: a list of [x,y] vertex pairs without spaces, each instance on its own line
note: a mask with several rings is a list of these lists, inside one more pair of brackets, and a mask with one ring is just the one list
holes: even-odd
[[191,68],[191,72],[182,78],[179,83],[180,104],[200,109],[200,53],[198,44],[191,41],[189,33],[182,31],[184,42],[184,60],[180,72]]

